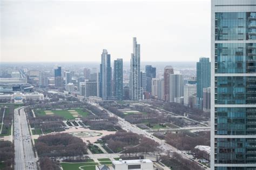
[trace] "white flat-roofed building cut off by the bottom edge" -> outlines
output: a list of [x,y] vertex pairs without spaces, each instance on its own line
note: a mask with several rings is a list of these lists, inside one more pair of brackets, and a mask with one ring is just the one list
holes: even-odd
[[112,161],[112,167],[114,170],[128,170],[128,169],[136,169],[136,170],[153,170],[153,162],[149,159],[138,159],[138,160],[118,160]]

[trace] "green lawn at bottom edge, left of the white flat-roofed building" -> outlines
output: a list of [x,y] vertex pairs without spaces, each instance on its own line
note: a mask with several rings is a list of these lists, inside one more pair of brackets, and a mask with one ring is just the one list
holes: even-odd
[[95,170],[96,162],[79,162],[79,163],[61,163],[63,170],[79,170],[81,167],[84,170]]

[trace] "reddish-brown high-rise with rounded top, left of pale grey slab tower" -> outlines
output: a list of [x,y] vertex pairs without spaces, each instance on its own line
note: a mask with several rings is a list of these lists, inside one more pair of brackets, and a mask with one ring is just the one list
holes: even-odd
[[169,92],[170,92],[170,74],[174,74],[172,66],[166,66],[164,68],[164,100],[169,101]]

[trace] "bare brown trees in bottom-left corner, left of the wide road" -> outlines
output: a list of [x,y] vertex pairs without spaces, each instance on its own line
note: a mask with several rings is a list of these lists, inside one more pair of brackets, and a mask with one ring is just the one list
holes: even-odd
[[14,169],[14,144],[12,142],[0,142],[0,162],[4,164],[3,169]]

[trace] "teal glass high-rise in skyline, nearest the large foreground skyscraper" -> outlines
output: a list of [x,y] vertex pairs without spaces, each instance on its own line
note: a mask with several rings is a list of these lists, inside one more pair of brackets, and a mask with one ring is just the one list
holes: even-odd
[[203,88],[211,86],[211,63],[209,58],[201,57],[197,62],[197,97],[203,98]]

